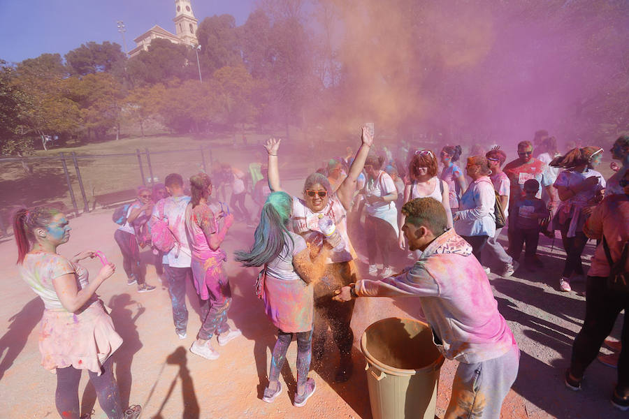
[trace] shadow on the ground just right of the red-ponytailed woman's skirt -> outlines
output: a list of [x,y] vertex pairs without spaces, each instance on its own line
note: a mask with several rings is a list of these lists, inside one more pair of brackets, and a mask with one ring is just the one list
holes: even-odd
[[[132,300],[129,294],[114,295],[109,300],[110,316],[118,335],[122,337],[122,346],[112,355],[115,362],[116,381],[120,392],[120,402],[123,407],[129,406],[129,395],[133,377],[131,376],[131,363],[133,356],[143,347],[136,327],[136,321],[145,312],[139,302]],[[133,314],[133,307],[137,311]],[[81,399],[81,411],[92,411],[96,402],[96,390],[92,383],[87,383]]]

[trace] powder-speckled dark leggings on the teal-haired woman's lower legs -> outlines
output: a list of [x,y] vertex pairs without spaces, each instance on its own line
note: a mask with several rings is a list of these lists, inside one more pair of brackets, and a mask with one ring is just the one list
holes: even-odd
[[[280,372],[286,361],[286,352],[293,340],[293,334],[277,329],[277,341],[273,347],[268,381],[280,379]],[[310,371],[310,359],[312,358],[312,330],[297,333],[297,388],[303,388]]]

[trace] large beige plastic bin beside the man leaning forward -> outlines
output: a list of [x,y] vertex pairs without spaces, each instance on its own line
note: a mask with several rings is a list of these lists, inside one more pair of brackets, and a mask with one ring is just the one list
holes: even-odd
[[430,326],[384,318],[366,328],[361,351],[374,419],[435,418],[443,355]]

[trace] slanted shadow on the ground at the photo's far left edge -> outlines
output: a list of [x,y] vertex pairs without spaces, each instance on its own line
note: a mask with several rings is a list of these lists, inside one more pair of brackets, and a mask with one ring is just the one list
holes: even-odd
[[31,331],[41,320],[43,309],[41,298],[35,297],[8,319],[11,322],[8,331],[0,337],[0,357],[4,355],[0,362],[0,379],[24,349]]

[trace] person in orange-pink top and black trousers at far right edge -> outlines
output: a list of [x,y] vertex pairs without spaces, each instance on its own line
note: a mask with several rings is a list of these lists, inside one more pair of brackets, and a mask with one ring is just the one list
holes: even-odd
[[[581,390],[585,370],[594,360],[605,337],[612,332],[616,318],[622,310],[629,309],[629,293],[609,287],[611,273],[605,246],[609,249],[612,263],[622,263],[629,280],[629,172],[619,179],[622,194],[608,196],[594,208],[584,226],[584,233],[591,239],[600,240],[592,258],[586,282],[586,315],[583,328],[574,339],[570,368],[565,372],[565,385],[570,390]],[[626,316],[626,315],[625,315]],[[626,322],[626,317],[625,317]],[[612,404],[623,411],[629,410],[629,328],[625,323],[621,335],[622,347],[618,360],[618,381],[612,393]]]

